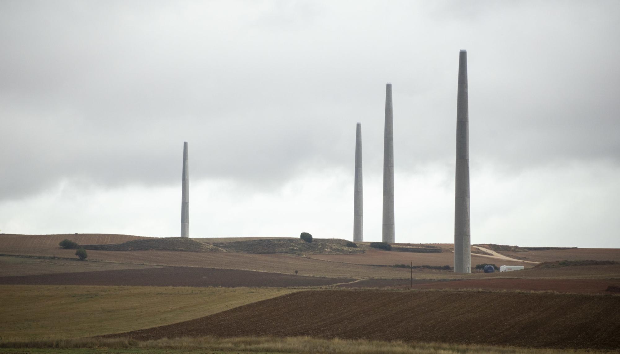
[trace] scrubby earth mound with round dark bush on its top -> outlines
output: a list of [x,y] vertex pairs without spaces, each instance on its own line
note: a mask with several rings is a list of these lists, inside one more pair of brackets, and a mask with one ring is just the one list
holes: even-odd
[[348,247],[350,241],[338,238],[315,238],[308,243],[300,238],[274,238],[213,243],[214,246],[234,253],[286,253],[286,254],[359,254],[368,246],[356,244]]

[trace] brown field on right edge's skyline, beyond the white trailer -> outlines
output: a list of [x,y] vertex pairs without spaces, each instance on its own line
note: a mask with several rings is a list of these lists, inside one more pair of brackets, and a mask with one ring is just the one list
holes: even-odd
[[[547,251],[500,252],[505,256],[533,262],[577,261],[595,259],[597,261],[620,261],[620,248],[572,248],[549,249]],[[473,261],[472,261],[473,262]]]

